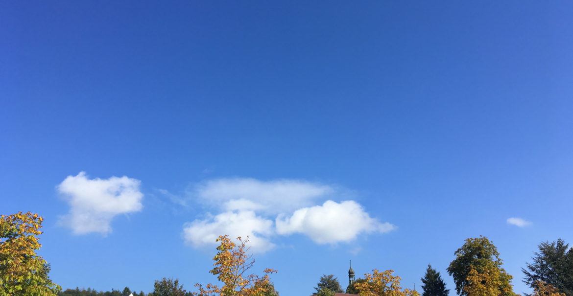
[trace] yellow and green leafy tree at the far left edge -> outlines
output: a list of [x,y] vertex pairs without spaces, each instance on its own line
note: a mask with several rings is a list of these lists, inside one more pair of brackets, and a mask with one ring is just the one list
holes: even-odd
[[31,212],[0,216],[0,295],[55,296],[62,290],[48,277],[48,262],[36,254],[42,221]]

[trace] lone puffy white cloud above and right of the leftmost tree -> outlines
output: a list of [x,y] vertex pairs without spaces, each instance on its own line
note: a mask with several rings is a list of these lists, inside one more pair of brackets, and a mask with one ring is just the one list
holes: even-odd
[[114,216],[142,210],[140,183],[127,176],[88,179],[85,172],[68,176],[56,187],[70,206],[60,222],[74,234],[108,234]]

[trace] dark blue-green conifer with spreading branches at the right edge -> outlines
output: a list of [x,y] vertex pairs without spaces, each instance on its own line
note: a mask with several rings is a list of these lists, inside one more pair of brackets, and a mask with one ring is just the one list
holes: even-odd
[[533,252],[533,263],[527,263],[523,282],[535,289],[543,282],[558,289],[560,293],[573,296],[573,248],[562,239],[556,242],[543,242]]

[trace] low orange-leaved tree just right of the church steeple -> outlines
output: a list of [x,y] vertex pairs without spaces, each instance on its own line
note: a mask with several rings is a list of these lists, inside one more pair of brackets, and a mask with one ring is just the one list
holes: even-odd
[[393,270],[372,270],[364,274],[366,281],[356,282],[355,288],[360,296],[419,296],[420,293],[400,286],[401,278],[393,275]]

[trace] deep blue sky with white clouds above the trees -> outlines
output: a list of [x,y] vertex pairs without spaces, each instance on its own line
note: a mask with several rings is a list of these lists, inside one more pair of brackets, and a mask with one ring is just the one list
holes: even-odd
[[346,287],[350,259],[418,290],[430,263],[453,295],[445,269],[479,235],[528,292],[537,244],[573,243],[572,14],[2,2],[0,212],[45,217],[64,289],[194,290],[229,232],[284,296],[322,274]]

